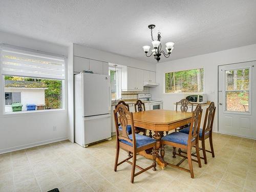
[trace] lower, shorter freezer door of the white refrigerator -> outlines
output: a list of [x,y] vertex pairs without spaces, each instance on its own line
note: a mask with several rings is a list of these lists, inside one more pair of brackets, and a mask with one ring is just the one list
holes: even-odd
[[111,115],[83,118],[84,145],[111,137]]

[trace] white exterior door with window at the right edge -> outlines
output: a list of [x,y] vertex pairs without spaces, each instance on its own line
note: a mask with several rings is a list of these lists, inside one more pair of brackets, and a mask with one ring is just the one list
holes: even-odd
[[256,61],[219,66],[218,130],[256,139]]

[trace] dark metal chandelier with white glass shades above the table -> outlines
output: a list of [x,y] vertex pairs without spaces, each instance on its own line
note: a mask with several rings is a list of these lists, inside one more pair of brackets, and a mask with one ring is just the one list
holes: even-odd
[[162,49],[162,45],[161,45],[161,33],[158,32],[157,33],[157,40],[154,40],[153,38],[153,29],[155,28],[155,25],[149,25],[148,28],[150,28],[151,30],[151,38],[152,38],[152,45],[153,45],[153,50],[152,53],[150,55],[147,55],[148,51],[150,50],[150,46],[143,46],[143,50],[146,53],[147,57],[150,57],[151,55],[154,55],[155,59],[157,60],[157,62],[160,60],[160,56],[163,54],[166,58],[168,58],[170,56],[170,53],[172,53],[173,49],[174,49],[174,42],[166,42],[165,44],[165,49],[167,51],[167,54],[161,50]]

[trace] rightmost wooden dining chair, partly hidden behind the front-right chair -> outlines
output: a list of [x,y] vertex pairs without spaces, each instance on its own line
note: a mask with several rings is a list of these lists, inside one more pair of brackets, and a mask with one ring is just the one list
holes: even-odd
[[[215,103],[211,102],[205,112],[203,129],[199,130],[199,140],[202,142],[202,148],[199,148],[199,150],[203,151],[204,157],[201,157],[201,159],[204,160],[205,164],[207,164],[206,152],[211,153],[211,156],[215,157],[214,145],[212,144],[212,125],[214,124],[215,110],[216,110]],[[180,132],[188,134],[189,129],[188,129],[188,127],[186,127],[185,129],[180,130]],[[205,149],[205,140],[208,138],[209,138],[209,142],[210,142],[210,151]],[[193,155],[195,155],[195,154],[193,154]]]

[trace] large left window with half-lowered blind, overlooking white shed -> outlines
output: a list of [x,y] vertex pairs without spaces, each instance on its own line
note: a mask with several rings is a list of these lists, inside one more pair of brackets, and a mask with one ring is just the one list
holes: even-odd
[[63,109],[64,58],[2,47],[1,61],[6,113]]

